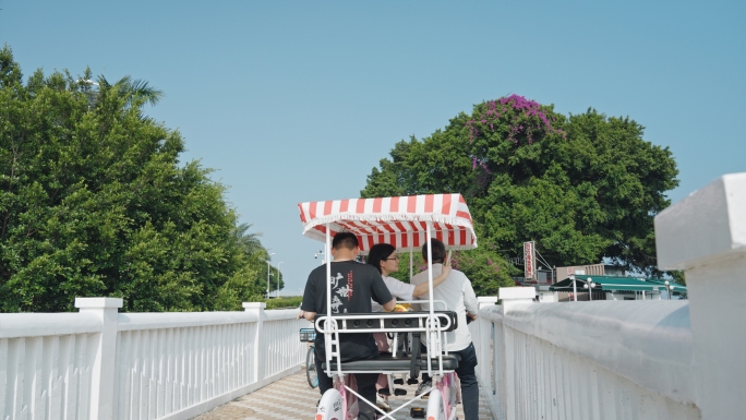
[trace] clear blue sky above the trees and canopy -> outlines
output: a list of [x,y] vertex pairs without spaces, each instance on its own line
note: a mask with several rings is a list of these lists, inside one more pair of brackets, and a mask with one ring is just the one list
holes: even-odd
[[678,164],[673,202],[746,171],[743,1],[0,0],[24,74],[91,67],[166,93],[148,113],[230,185],[299,295],[299,202],[359,196],[396,142],[518,94],[629,116]]

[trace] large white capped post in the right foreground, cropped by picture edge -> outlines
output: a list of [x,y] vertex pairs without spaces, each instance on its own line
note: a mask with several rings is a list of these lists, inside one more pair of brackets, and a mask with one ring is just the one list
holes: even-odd
[[655,216],[658,266],[685,269],[703,420],[744,418],[746,172],[726,175]]

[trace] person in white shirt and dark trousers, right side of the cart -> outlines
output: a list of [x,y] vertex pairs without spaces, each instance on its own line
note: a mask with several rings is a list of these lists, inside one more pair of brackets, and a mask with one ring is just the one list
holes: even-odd
[[[446,259],[445,245],[437,239],[431,240],[433,257],[433,276],[443,273],[443,262]],[[422,259],[428,262],[428,244],[422,247]],[[428,271],[418,273],[412,277],[412,285],[426,285]],[[429,297],[414,298],[428,300]],[[478,420],[479,418],[479,384],[477,382],[477,351],[471,343],[471,334],[467,327],[467,316],[471,320],[477,319],[477,296],[471,287],[471,281],[458,269],[450,271],[448,278],[437,288],[433,289],[433,299],[442,300],[446,303],[447,310],[456,312],[458,326],[455,331],[446,333],[447,350],[449,353],[458,355],[461,360],[458,362],[456,374],[461,382],[461,398],[464,404],[464,417],[466,420]],[[420,303],[423,311],[430,310],[428,302]],[[437,304],[435,309],[441,309]],[[423,340],[426,337],[423,337]],[[417,395],[421,394],[431,385],[431,379],[426,373],[422,374],[422,383],[418,387]]]

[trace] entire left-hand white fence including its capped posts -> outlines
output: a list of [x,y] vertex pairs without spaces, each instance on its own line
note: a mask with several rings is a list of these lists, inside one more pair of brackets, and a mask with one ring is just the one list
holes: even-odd
[[0,314],[0,419],[189,419],[296,371],[297,310]]

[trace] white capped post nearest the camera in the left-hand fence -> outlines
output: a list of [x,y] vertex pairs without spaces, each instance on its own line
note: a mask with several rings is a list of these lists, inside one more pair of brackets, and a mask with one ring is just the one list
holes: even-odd
[[117,333],[122,303],[119,298],[75,298],[75,308],[80,312],[96,314],[101,321],[101,334],[91,375],[91,419],[113,419]]

